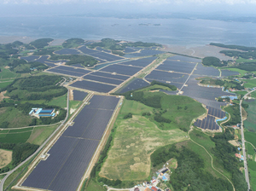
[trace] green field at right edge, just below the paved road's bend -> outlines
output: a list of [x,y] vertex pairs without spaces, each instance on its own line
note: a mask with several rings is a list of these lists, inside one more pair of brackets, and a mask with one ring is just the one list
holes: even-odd
[[[247,130],[253,130],[256,131],[256,101],[247,102],[244,101],[244,103],[249,104],[249,107],[247,107],[247,120],[244,121],[244,126],[247,128]],[[256,145],[255,145],[256,146]]]

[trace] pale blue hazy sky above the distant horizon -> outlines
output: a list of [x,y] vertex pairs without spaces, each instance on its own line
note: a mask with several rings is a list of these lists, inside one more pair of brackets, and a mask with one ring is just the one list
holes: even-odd
[[0,16],[85,13],[256,15],[256,0],[0,0]]

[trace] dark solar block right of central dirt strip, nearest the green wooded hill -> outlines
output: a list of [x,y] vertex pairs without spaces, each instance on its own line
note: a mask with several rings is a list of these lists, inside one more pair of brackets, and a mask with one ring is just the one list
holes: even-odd
[[181,74],[175,72],[162,72],[154,70],[148,74],[145,78],[148,80],[160,80],[163,82],[171,82],[171,83],[184,83],[187,78],[189,77],[188,74]]

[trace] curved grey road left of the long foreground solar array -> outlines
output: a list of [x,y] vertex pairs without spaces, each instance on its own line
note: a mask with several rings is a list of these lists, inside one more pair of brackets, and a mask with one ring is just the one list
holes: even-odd
[[6,179],[14,172],[16,171],[18,168],[20,168],[21,165],[24,165],[27,161],[29,161],[30,159],[32,159],[36,154],[39,153],[39,151],[44,148],[44,146],[49,142],[49,140],[55,136],[55,133],[61,129],[61,126],[63,124],[66,123],[67,121],[67,118],[68,118],[68,110],[69,110],[69,90],[67,89],[67,115],[66,115],[66,118],[61,122],[60,126],[58,126],[58,128],[48,137],[48,139],[38,148],[38,150],[33,153],[30,157],[28,157],[26,160],[24,160],[22,163],[20,163],[20,165],[17,165],[15,167],[15,169],[13,169],[12,171],[9,171],[6,173],[6,176],[3,177],[2,181],[0,182],[0,191],[3,191],[3,184],[4,182],[6,181]]

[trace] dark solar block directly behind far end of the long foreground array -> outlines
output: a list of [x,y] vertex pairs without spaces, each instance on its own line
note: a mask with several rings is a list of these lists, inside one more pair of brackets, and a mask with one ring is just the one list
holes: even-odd
[[100,83],[86,81],[86,80],[77,81],[71,84],[70,86],[84,89],[84,90],[91,90],[91,91],[97,91],[97,92],[103,92],[103,93],[107,93],[108,91],[113,90],[116,87],[113,85],[100,84]]

